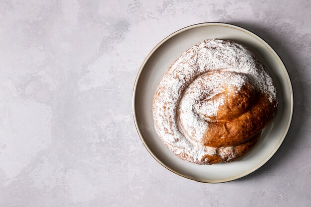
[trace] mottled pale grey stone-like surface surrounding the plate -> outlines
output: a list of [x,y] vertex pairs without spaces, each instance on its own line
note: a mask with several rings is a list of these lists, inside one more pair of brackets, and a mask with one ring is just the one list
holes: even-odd
[[[149,51],[209,21],[264,38],[295,93],[292,127],[275,156],[224,184],[163,168],[132,115]],[[0,207],[310,206],[310,67],[308,0],[1,0]]]

